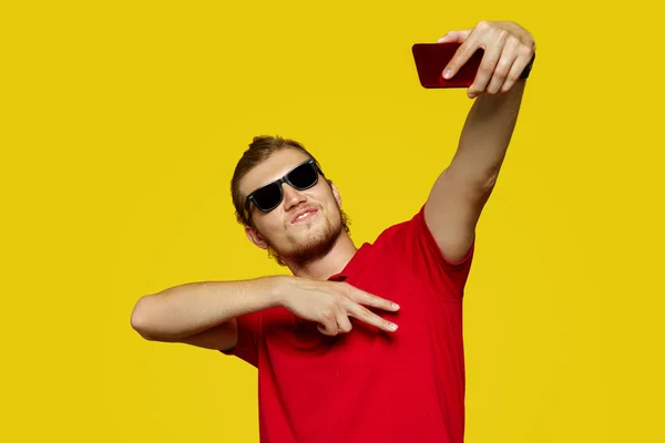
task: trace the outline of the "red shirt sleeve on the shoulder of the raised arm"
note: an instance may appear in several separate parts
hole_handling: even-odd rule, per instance
[[[443,257],[434,236],[424,220],[424,205],[410,220],[395,227],[391,243],[411,271],[432,286],[449,301],[463,298],[464,286],[471,269],[475,238],[460,261],[452,262]]]

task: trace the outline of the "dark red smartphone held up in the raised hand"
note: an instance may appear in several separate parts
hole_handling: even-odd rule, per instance
[[[484,51],[478,51],[452,79],[443,79],[443,69],[462,43],[416,43],[412,47],[416,70],[422,87],[469,87],[473,84]]]

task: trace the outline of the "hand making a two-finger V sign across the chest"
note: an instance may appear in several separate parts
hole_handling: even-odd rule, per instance
[[[349,317],[383,331],[397,330],[397,324],[380,318],[365,306],[387,311],[397,311],[399,306],[346,282],[290,277],[284,293],[282,305],[295,316],[319,323],[318,330],[326,336],[349,332]]]

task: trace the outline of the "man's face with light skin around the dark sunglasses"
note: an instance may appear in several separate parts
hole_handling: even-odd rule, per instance
[[[309,157],[300,151],[284,148],[249,171],[241,182],[246,197],[254,189],[283,177]],[[247,237],[262,248],[272,248],[283,259],[306,262],[326,254],[342,230],[337,189],[319,175],[305,190],[283,184],[284,199],[269,213],[254,205],[249,214],[256,229],[246,228]]]

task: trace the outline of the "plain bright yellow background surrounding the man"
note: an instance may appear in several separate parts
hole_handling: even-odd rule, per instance
[[[233,217],[254,135],[319,157],[358,245],[410,217],[471,104],[411,44],[482,19],[538,60],[467,290],[467,441],[665,441],[662,19],[607,4],[2,2],[0,441],[256,442],[255,371],[142,340],[134,302],[286,272]]]

